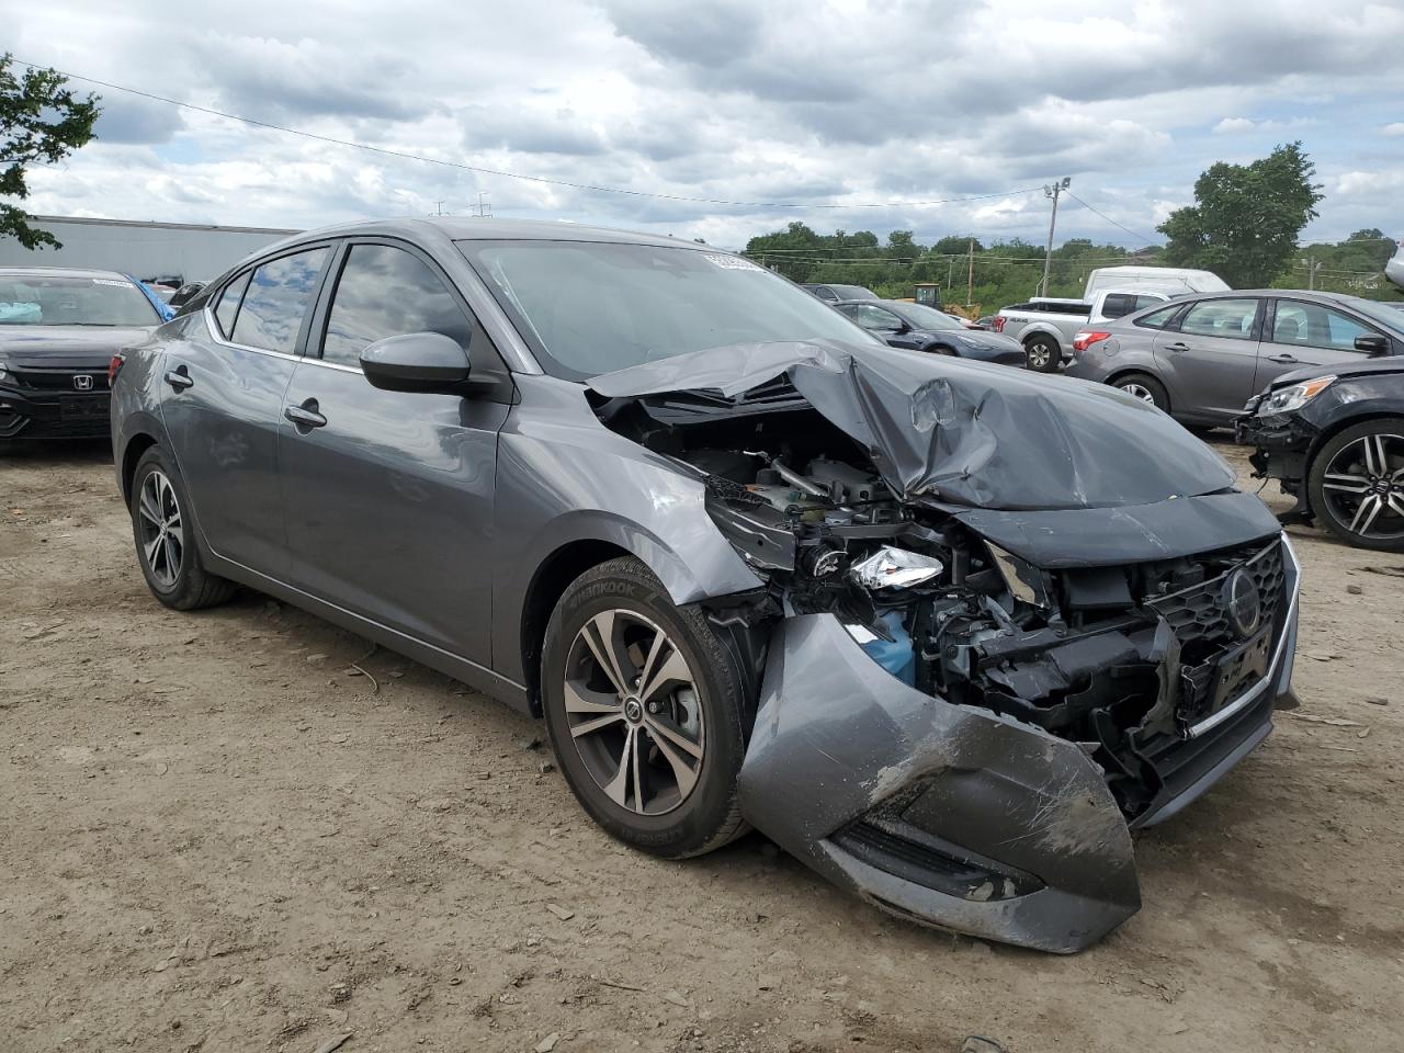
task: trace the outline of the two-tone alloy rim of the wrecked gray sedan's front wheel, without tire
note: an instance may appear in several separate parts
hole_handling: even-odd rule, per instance
[[[566,658],[574,748],[619,807],[660,816],[698,783],[706,748],[698,682],[668,635],[636,611],[592,616]]]

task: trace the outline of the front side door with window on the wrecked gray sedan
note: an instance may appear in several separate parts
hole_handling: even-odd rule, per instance
[[[420,331],[458,340],[479,362],[487,336],[427,258],[386,243],[348,249],[324,317],[284,399],[291,583],[489,665],[493,484],[508,406],[383,392],[359,366],[368,344]]]

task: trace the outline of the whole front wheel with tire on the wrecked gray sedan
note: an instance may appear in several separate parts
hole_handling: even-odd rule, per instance
[[[644,649],[653,650],[658,633],[665,643],[650,667]],[[605,670],[605,636],[626,667],[626,692]],[[651,694],[635,677],[646,670],[658,685]],[[656,678],[665,673],[677,675]],[[677,608],[640,560],[612,559],[570,584],[546,626],[541,674],[546,734],[562,775],[607,833],[668,859],[709,852],[746,833],[737,802],[740,663],[716,628],[701,612]],[[632,743],[639,748],[630,753]]]

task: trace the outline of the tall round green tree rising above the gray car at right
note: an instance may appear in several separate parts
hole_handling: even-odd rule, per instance
[[[1266,285],[1296,253],[1297,236],[1317,216],[1321,184],[1302,143],[1276,147],[1251,164],[1219,161],[1195,180],[1195,204],[1157,229],[1168,239],[1163,261],[1200,267],[1228,285]]]

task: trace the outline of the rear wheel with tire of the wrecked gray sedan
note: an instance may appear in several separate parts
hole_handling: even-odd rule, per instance
[[[223,604],[234,594],[232,581],[205,570],[194,539],[185,482],[160,446],[152,446],[136,462],[128,511],[142,577],[166,607],[198,611]]]

